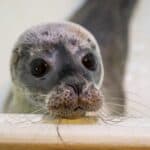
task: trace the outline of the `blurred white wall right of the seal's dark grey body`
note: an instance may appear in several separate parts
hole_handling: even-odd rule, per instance
[[[130,28],[126,92],[130,112],[150,117],[150,1],[139,0]]]

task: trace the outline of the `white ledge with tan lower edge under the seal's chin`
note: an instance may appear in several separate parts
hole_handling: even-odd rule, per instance
[[[58,122],[42,115],[0,114],[0,150],[150,149],[150,119],[112,125],[94,117]]]

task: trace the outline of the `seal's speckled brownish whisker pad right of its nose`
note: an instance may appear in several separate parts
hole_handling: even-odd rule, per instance
[[[94,86],[83,90],[79,97],[79,105],[86,111],[97,111],[102,107],[103,94]]]

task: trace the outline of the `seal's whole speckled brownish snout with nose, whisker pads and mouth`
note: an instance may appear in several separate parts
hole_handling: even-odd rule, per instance
[[[62,84],[51,92],[48,109],[53,116],[78,117],[88,111],[97,111],[102,106],[103,97],[92,84],[84,82]]]

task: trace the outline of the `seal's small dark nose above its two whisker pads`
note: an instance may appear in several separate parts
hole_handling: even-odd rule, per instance
[[[71,83],[71,84],[68,84],[68,86],[72,87],[76,94],[80,95],[82,93],[84,82],[81,81],[78,83]]]

